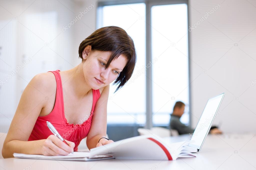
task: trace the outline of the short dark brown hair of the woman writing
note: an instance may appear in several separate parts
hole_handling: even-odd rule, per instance
[[[131,78],[135,67],[137,58],[132,38],[120,27],[102,27],[94,31],[90,36],[81,42],[78,53],[79,58],[82,59],[82,62],[82,53],[87,45],[91,45],[92,50],[112,52],[108,62],[106,63],[105,69],[109,67],[112,60],[118,58],[121,54],[124,55],[128,60],[123,71],[120,72],[119,76],[113,83],[118,85],[115,90],[116,92]]]

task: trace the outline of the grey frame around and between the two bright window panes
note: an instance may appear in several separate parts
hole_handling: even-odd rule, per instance
[[[146,5],[146,63],[149,63],[152,60],[152,29],[151,29],[151,8],[152,6],[156,5],[173,5],[173,4],[187,4],[187,14],[189,14],[189,4],[188,0],[163,0],[161,2],[158,2],[158,0],[113,0],[113,1],[105,1],[100,0],[98,2],[97,6],[97,14],[96,14],[96,28],[99,28],[100,25],[102,25],[102,8],[103,6],[109,6],[109,5],[123,5],[123,4],[136,4],[136,3],[145,3]],[[188,17],[188,16],[187,16]],[[150,24],[149,24],[150,23]],[[188,17],[188,25],[190,24],[190,20]],[[188,29],[188,28],[187,28]],[[188,31],[188,95],[189,95],[189,123],[188,125],[191,126],[191,87],[190,87],[190,32]],[[145,64],[146,64],[145,63]],[[153,127],[153,110],[152,110],[152,67],[149,67],[146,69],[146,124],[144,125],[145,128],[152,128]]]

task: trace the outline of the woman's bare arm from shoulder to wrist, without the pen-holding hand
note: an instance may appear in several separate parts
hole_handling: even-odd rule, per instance
[[[41,90],[43,84],[41,75],[38,74],[24,89],[4,141],[2,149],[4,158],[12,157],[14,152],[30,154],[33,151],[40,153],[41,141],[28,142],[27,140],[45,104],[44,91]]]

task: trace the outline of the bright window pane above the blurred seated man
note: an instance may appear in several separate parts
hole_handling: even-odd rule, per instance
[[[168,125],[175,102],[189,104],[187,4],[152,6],[151,25],[153,125]]]

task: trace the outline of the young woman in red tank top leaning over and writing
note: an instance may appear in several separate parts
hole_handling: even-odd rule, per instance
[[[104,138],[109,84],[120,89],[131,77],[136,52],[119,27],[103,27],[79,46],[82,62],[67,71],[37,74],[25,88],[4,141],[2,155],[67,155],[87,137],[89,149],[113,142]],[[68,143],[52,135],[52,123]]]

